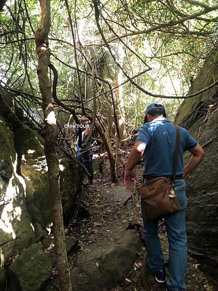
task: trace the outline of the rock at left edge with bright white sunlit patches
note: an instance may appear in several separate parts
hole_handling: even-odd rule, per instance
[[[4,192],[5,203],[0,208],[0,250],[3,257],[0,263],[3,266],[8,258],[28,248],[35,241],[31,217],[26,207],[24,185],[16,176],[14,177],[13,172],[12,179],[5,183],[5,186],[7,188]]]

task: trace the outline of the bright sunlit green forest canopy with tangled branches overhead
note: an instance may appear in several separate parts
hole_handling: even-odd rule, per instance
[[[49,50],[58,72],[58,98],[79,112],[93,109],[96,95],[102,120],[113,115],[114,98],[119,125],[128,129],[140,126],[147,103],[164,96],[176,98],[162,99],[172,120],[205,57],[217,45],[215,0],[50,4]],[[31,0],[7,1],[0,13],[1,86],[14,94],[37,126],[42,114],[34,34],[40,17],[39,1]],[[50,69],[51,85],[52,75]]]

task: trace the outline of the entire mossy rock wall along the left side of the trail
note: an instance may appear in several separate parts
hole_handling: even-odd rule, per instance
[[[68,159],[60,160],[60,170],[67,216],[83,174]],[[43,138],[18,120],[13,99],[0,90],[0,290],[11,261],[47,236],[51,211]]]

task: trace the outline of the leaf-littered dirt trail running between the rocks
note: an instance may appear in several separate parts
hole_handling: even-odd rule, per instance
[[[138,166],[137,172],[140,176],[142,166]],[[104,181],[105,182],[105,181]],[[122,184],[117,186],[103,186],[103,181],[96,180],[95,184],[89,188],[84,188],[83,198],[85,198],[85,208],[89,213],[86,213],[84,219],[75,219],[71,222],[68,228],[68,233],[80,238],[82,245],[88,248],[88,245],[106,239],[108,243],[113,242],[114,228],[119,229],[120,232],[124,231],[128,227],[136,227],[139,233],[142,233],[142,228],[138,224],[142,225],[140,202],[136,194],[123,205],[122,202],[114,199],[112,192],[122,192]],[[118,193],[118,197],[120,195]],[[132,195],[130,191],[128,195]],[[134,198],[134,199],[133,199]],[[126,199],[125,199],[126,200]],[[163,252],[166,260],[168,259],[168,242],[165,233],[164,223],[160,225],[160,237],[163,245]],[[144,260],[144,263],[143,263]],[[141,274],[141,267],[143,267],[143,274]],[[206,274],[201,272],[201,266],[198,262],[188,257],[188,270],[185,283],[187,291],[216,291],[217,287],[209,282]],[[168,274],[168,270],[167,270]],[[143,283],[145,283],[145,288]],[[151,271],[147,266],[145,247],[136,254],[136,260],[132,266],[132,271],[126,275],[123,281],[115,288],[109,291],[161,291],[166,290],[164,285],[156,283]]]

